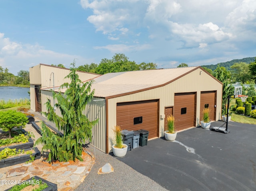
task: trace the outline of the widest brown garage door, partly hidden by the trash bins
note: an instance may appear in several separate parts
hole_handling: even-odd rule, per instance
[[[158,100],[118,103],[116,124],[126,130],[148,130],[148,138],[158,137]]]

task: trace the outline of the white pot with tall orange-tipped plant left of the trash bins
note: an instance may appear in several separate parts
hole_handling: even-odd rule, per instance
[[[114,127],[113,130],[114,130],[115,138],[116,138],[116,140],[115,140],[116,144],[114,144],[112,146],[114,156],[116,156],[118,158],[124,157],[127,153],[128,146],[126,144],[124,144],[122,141],[121,127],[117,125]]]

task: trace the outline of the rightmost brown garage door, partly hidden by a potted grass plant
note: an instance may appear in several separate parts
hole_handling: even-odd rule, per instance
[[[216,120],[216,91],[201,92],[200,96],[200,120],[202,119],[202,110],[207,107],[210,108],[210,120]]]

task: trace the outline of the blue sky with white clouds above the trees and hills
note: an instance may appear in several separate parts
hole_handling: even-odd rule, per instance
[[[17,75],[124,53],[158,68],[256,56],[255,0],[1,0],[0,66]]]

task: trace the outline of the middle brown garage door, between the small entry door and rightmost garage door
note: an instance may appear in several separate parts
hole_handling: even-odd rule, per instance
[[[196,93],[174,95],[174,117],[176,130],[195,126]]]

